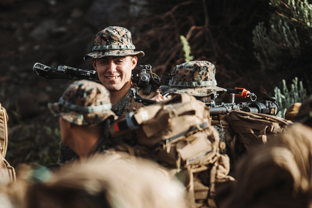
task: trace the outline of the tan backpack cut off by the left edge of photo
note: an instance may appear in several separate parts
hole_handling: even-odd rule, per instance
[[[16,180],[15,170],[7,160],[4,158],[7,153],[7,111],[1,106],[0,103],[0,168],[1,178],[6,182],[12,182]],[[1,182],[4,182],[1,181]]]

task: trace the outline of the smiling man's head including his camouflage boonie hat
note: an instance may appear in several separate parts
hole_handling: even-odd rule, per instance
[[[93,58],[92,65],[98,71],[99,79],[113,92],[131,87],[131,75],[137,64],[137,56],[144,56],[143,51],[134,49],[129,30],[124,27],[106,27],[98,32],[93,52],[85,55],[84,59]]]

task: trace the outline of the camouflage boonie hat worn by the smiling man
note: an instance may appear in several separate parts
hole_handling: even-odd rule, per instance
[[[105,56],[144,56],[143,51],[134,51],[135,46],[131,40],[131,32],[124,27],[106,27],[95,37],[92,53],[85,55],[88,58],[103,58]]]

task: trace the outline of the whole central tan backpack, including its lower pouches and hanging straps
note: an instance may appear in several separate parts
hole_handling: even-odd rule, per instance
[[[171,168],[187,188],[188,207],[216,207],[216,182],[234,180],[227,176],[229,158],[219,153],[222,145],[209,108],[191,95],[178,94],[121,116],[110,134],[130,144],[128,152]]]

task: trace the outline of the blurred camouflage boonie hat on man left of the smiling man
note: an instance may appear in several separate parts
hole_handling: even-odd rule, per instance
[[[111,111],[110,93],[101,84],[78,80],[67,87],[56,103],[48,103],[48,108],[55,117],[76,125],[92,125],[115,118]]]

